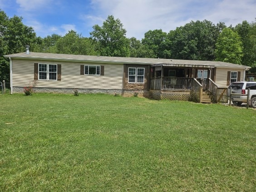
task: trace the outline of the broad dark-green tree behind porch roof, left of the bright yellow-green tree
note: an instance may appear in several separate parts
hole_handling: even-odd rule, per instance
[[[167,34],[166,53],[173,59],[213,60],[217,37],[224,26],[197,20],[177,27]]]

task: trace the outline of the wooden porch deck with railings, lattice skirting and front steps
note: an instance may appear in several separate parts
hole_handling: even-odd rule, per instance
[[[201,81],[200,81],[201,80]],[[218,87],[212,79],[157,77],[150,82],[150,97],[197,103],[227,102],[227,88]]]

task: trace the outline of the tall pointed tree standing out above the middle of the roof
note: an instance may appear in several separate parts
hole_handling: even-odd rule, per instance
[[[128,57],[129,39],[126,38],[126,30],[119,19],[115,20],[113,15],[108,15],[102,27],[93,26],[94,31],[90,33],[91,39],[98,44],[100,55]]]

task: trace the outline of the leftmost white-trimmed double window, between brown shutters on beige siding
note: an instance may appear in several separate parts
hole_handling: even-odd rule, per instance
[[[38,64],[39,80],[57,81],[57,64]]]

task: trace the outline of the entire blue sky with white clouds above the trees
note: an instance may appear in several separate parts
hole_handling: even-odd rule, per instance
[[[41,37],[69,30],[89,37],[92,26],[102,26],[108,15],[121,20],[128,38],[137,39],[148,30],[169,32],[191,20],[235,26],[256,18],[256,0],[0,0],[0,9],[23,17]]]

